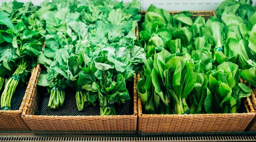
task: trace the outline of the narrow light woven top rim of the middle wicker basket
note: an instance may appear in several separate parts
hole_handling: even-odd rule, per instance
[[[137,38],[139,37],[139,26],[137,23],[137,27],[134,31],[134,33],[136,34]],[[45,42],[44,45],[45,46]],[[133,88],[133,104],[134,104],[134,109],[133,109],[133,113],[131,115],[108,115],[108,116],[99,116],[99,115],[90,115],[90,116],[47,116],[47,115],[28,115],[29,113],[29,108],[31,106],[32,103],[32,99],[31,96],[35,95],[33,93],[33,90],[36,89],[37,86],[37,81],[38,81],[38,77],[40,75],[40,71],[41,71],[41,67],[40,64],[37,65],[37,67],[35,67],[36,69],[38,69],[38,74],[35,74],[33,77],[33,81],[32,81],[32,85],[29,89],[29,93],[28,93],[28,97],[26,100],[26,104],[25,107],[23,109],[22,115],[21,117],[23,119],[111,119],[111,118],[137,118],[138,117],[138,104],[137,104],[137,73],[135,73],[134,76],[134,88]]]

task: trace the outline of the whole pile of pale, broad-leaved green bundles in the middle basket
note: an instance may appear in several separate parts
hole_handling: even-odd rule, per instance
[[[134,43],[140,3],[105,0],[45,1],[37,11],[46,22],[46,44],[38,63],[46,67],[38,85],[51,92],[49,107],[63,105],[64,89],[76,89],[79,111],[101,106],[101,115],[116,115],[113,104],[130,96],[126,82],[141,68],[145,51]]]

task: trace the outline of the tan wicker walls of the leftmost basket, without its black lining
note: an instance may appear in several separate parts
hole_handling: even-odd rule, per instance
[[[22,111],[25,106],[25,102],[28,96],[28,92],[32,83],[32,77],[35,75],[36,68],[33,69],[32,75],[29,79],[28,86],[26,88],[25,95],[21,102],[19,110],[9,110],[2,111],[0,110],[0,128],[1,131],[30,131],[29,126],[25,123],[25,121],[21,118]]]

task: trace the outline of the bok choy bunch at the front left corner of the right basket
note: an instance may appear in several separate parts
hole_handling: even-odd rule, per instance
[[[171,113],[169,107],[171,95],[169,90],[164,87],[168,85],[168,80],[164,75],[164,61],[168,56],[171,56],[171,54],[163,49],[160,53],[155,54],[154,57],[150,57],[144,62],[144,70],[141,72],[141,79],[137,84],[137,90],[141,97],[142,104],[145,106],[144,110],[147,113]],[[162,65],[160,66],[159,64],[158,66],[157,62],[161,62]]]

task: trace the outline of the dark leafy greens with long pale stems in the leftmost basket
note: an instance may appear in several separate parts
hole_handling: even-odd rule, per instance
[[[40,36],[40,21],[34,19],[37,6],[17,1],[3,3],[0,8],[0,89],[1,109],[10,110],[17,85],[26,83],[35,66],[44,39]]]

